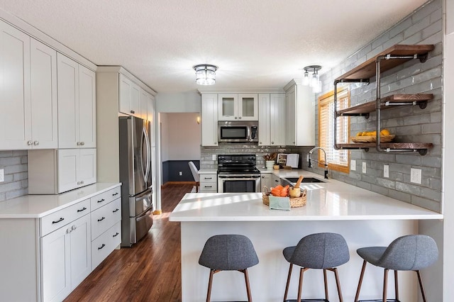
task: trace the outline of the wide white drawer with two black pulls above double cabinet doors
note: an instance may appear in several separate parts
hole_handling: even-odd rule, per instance
[[[86,199],[60,211],[40,218],[40,237],[43,237],[63,225],[90,213],[90,200]]]

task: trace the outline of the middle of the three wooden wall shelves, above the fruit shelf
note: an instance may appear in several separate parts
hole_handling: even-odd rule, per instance
[[[417,103],[427,102],[433,99],[433,94],[393,94],[392,96],[384,97],[380,99],[382,105],[380,109],[392,108],[392,104],[396,103],[399,105],[408,104],[411,105],[415,101]],[[389,105],[387,104],[389,103]],[[337,111],[338,116],[343,115],[361,115],[365,113],[374,112],[376,110],[376,101],[370,101],[365,104],[360,104],[350,108],[345,108]]]

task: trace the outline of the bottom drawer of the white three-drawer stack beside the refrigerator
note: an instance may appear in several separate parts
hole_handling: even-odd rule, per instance
[[[121,221],[92,241],[92,270],[121,243]]]

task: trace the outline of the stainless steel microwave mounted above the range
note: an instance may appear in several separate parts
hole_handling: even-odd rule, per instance
[[[219,121],[219,142],[258,142],[258,121]]]

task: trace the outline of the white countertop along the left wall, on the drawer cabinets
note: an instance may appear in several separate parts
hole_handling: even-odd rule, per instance
[[[96,183],[56,195],[26,195],[0,202],[0,218],[41,218],[74,203],[91,198],[120,183]]]

